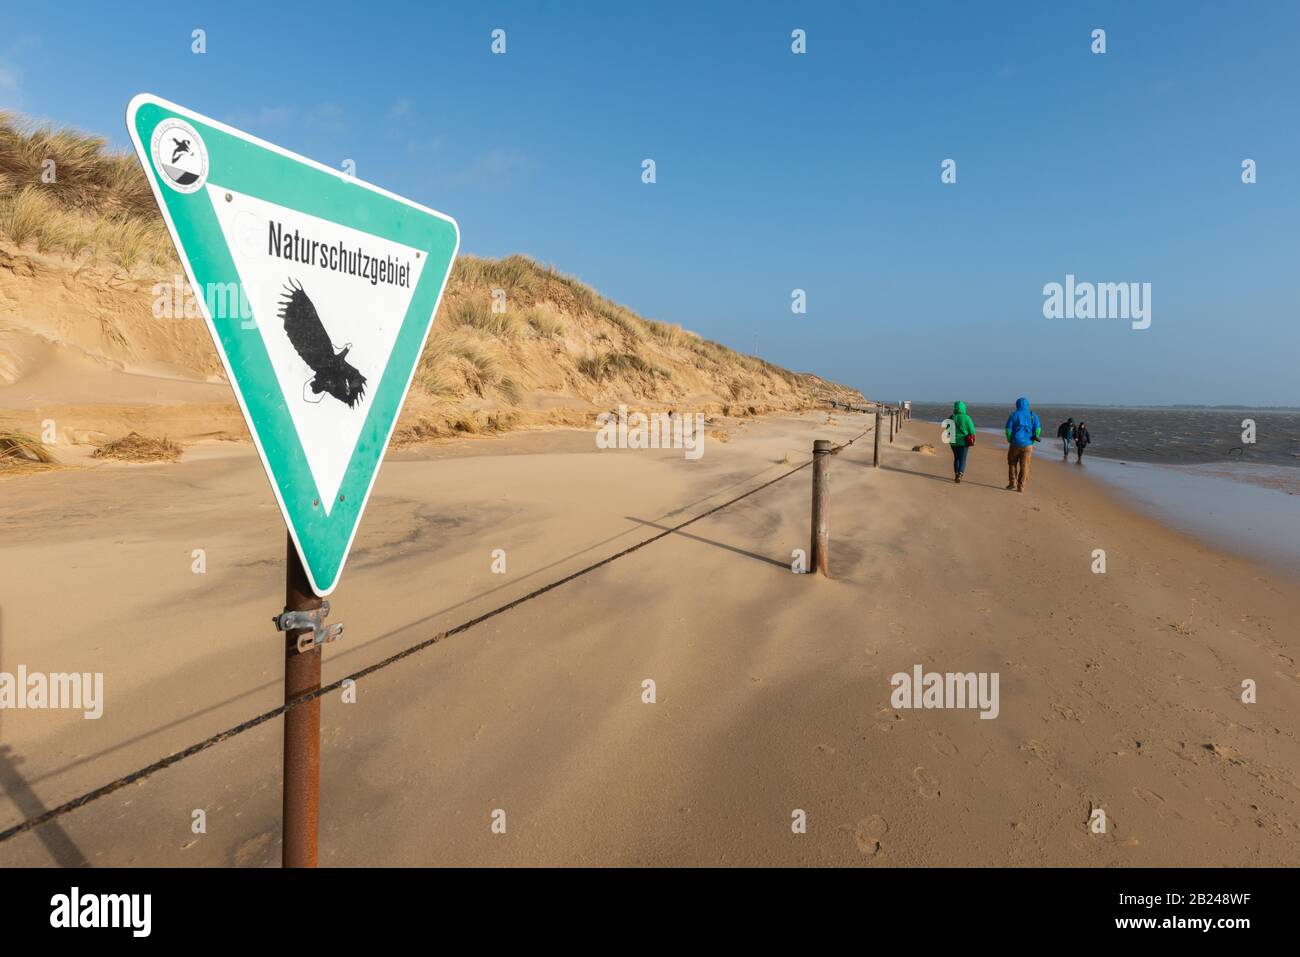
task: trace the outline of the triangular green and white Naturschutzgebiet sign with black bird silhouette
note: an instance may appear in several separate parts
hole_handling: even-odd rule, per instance
[[[140,94],[126,125],[312,589],[338,584],[455,221]]]

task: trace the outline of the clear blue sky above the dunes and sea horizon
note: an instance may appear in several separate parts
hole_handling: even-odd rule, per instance
[[[62,3],[5,27],[3,107],[126,147],[155,92],[355,160],[464,252],[868,395],[1300,404],[1300,4]],[[1044,319],[1066,273],[1150,282],[1150,328]]]

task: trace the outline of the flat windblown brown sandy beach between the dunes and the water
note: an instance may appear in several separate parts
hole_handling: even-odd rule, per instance
[[[867,426],[728,419],[694,462],[568,429],[393,452],[333,596],[347,636],[325,680]],[[1300,585],[1050,454],[1015,494],[982,441],[953,485],[942,446],[911,451],[933,433],[910,423],[880,469],[870,436],[833,458],[829,580],[789,570],[805,469],[363,679],[355,703],[326,697],[321,863],[1294,863]],[[101,671],[105,697],[99,720],[0,713],[0,830],[281,702],[283,528],[251,446],[0,494],[0,671]],[[890,676],[918,664],[996,672],[996,719],[892,707]],[[8,841],[0,865],[277,865],[280,735]]]

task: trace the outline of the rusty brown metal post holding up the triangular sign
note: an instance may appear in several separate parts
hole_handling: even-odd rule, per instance
[[[303,571],[294,540],[285,536],[285,610],[311,611],[321,606]],[[298,638],[309,628],[285,632],[285,702],[321,687],[321,646],[299,651]],[[321,778],[321,701],[316,698],[285,713],[283,837],[285,867],[316,866],[316,813]]]

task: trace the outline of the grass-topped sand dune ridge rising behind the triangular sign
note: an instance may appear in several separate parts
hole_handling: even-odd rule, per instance
[[[754,416],[828,399],[862,395],[644,319],[526,256],[462,256],[394,443],[586,426],[621,402]],[[135,157],[0,111],[3,430],[73,460],[133,430],[247,439]]]

